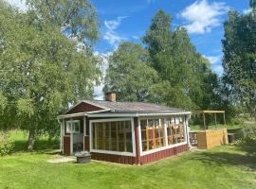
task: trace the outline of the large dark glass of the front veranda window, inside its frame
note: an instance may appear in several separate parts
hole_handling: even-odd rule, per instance
[[[133,152],[131,121],[92,123],[92,148]]]

